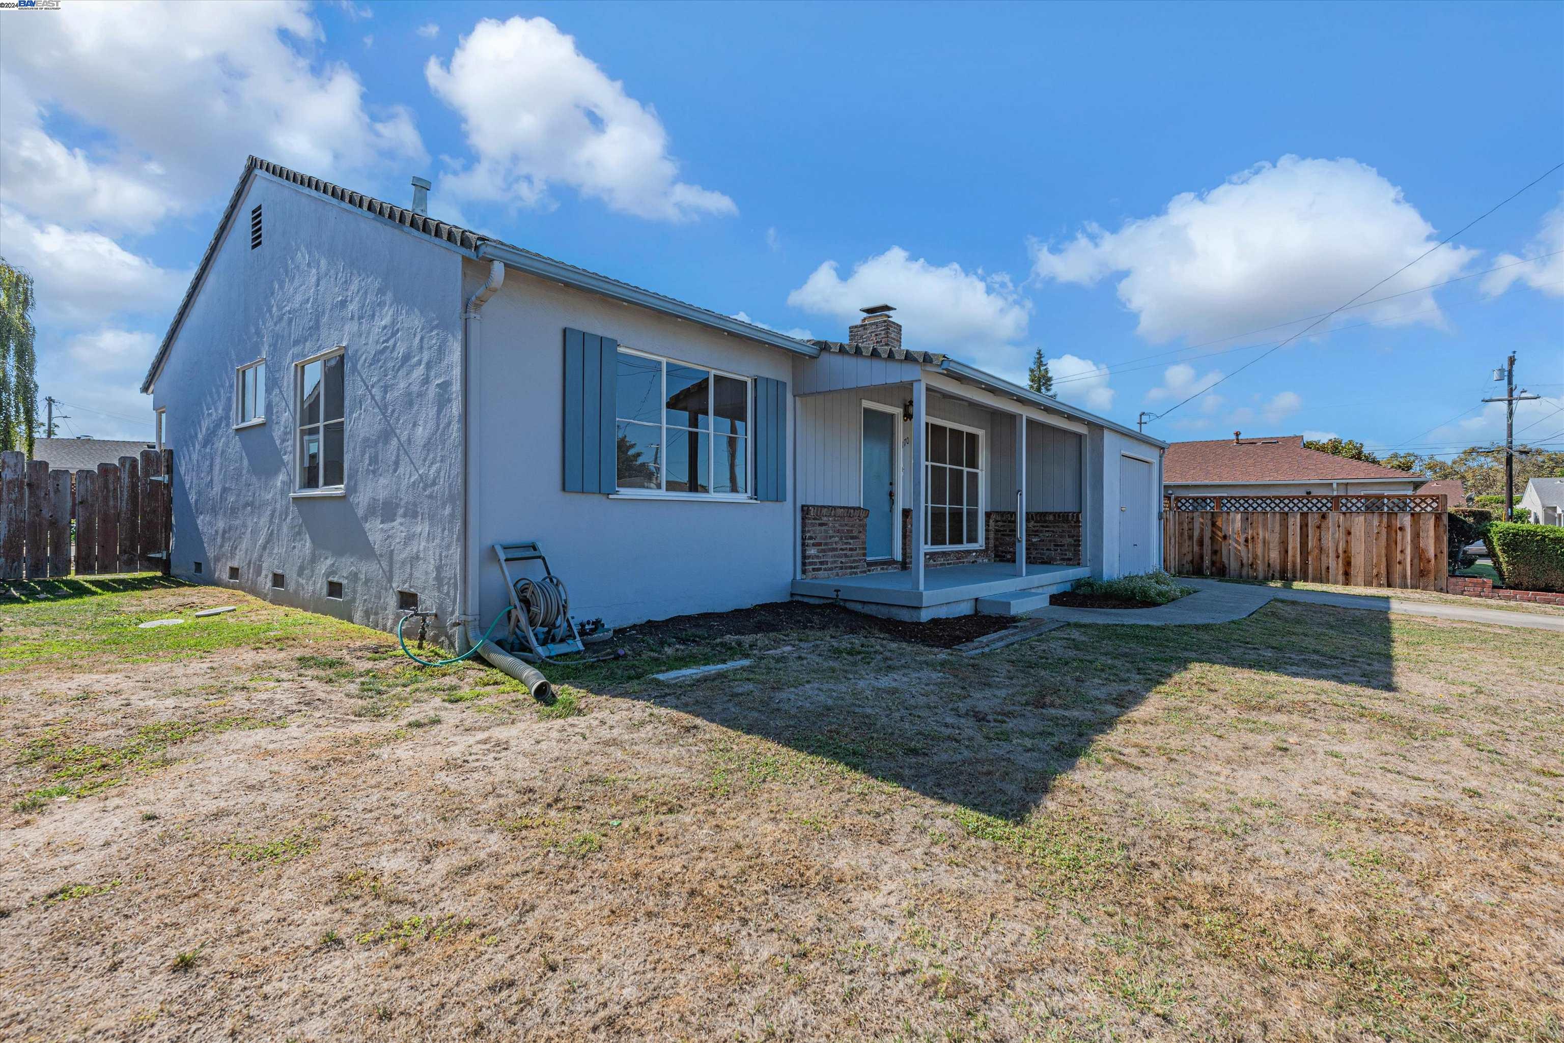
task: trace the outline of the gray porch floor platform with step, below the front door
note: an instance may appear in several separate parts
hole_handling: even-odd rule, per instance
[[[1009,561],[978,561],[927,568],[921,585],[915,569],[801,579],[793,580],[793,597],[918,622],[974,611],[1017,616],[1042,608],[1048,594],[1068,590],[1090,572],[1076,565],[1028,565],[1021,574]]]

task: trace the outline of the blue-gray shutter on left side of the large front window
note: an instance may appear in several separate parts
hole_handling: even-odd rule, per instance
[[[619,342],[565,330],[565,491],[613,493],[618,486],[615,391]]]

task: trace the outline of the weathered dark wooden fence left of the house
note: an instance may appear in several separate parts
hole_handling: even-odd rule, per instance
[[[0,453],[0,580],[167,572],[174,453],[50,469]]]

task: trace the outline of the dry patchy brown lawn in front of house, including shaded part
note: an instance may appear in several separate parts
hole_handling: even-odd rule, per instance
[[[120,586],[0,600],[3,1038],[1564,1038],[1556,633],[799,611],[538,707]]]

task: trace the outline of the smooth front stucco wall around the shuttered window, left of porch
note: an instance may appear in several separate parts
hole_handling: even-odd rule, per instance
[[[468,263],[466,292],[488,275]],[[793,579],[793,475],[788,500],[638,500],[565,493],[561,427],[565,328],[694,366],[790,382],[791,357],[690,322],[621,305],[519,272],[483,310],[479,372],[480,615],[507,602],[490,549],[536,539],[571,593],[571,615],[627,625],[785,600]],[[790,413],[793,403],[790,402]]]

